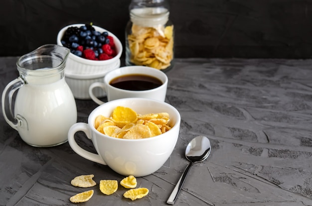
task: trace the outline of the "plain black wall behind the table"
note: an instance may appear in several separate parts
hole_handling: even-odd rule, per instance
[[[170,0],[176,57],[311,58],[311,0]],[[0,56],[56,43],[93,22],[124,44],[130,0],[2,0]]]

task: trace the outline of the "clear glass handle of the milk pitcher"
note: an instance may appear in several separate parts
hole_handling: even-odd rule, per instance
[[[20,115],[14,116],[12,110],[12,97],[14,92],[21,88],[26,82],[21,79],[20,77],[16,78],[15,80],[11,81],[6,85],[2,93],[2,112],[5,121],[15,130],[17,127],[22,126],[23,124],[27,124],[27,121]]]

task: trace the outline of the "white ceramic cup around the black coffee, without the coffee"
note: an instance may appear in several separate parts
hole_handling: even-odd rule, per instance
[[[113,87],[110,85],[110,82],[120,76],[124,75],[132,75],[132,74],[143,74],[152,77],[156,77],[162,82],[162,85],[151,89],[151,90],[144,90],[144,91],[131,91],[131,90],[124,90]],[[167,84],[168,78],[162,72],[155,68],[145,67],[145,66],[127,66],[115,69],[109,73],[107,73],[104,77],[104,82],[95,82],[90,85],[89,87],[89,95],[91,99],[98,104],[103,104],[104,102],[99,100],[92,92],[92,90],[96,87],[102,88],[107,95],[107,100],[118,100],[123,98],[147,98],[153,99],[164,102],[166,92],[167,92]]]

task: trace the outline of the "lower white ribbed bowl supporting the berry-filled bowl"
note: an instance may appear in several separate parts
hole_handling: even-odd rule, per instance
[[[116,62],[114,68],[118,69],[120,67],[120,60]],[[79,100],[90,100],[89,88],[93,83],[101,82],[104,83],[104,77],[107,72],[103,74],[87,74],[87,75],[78,75],[78,74],[65,74],[65,81],[69,86],[71,92],[73,93],[75,99]],[[107,94],[101,88],[94,88],[93,94],[97,98],[105,97]]]

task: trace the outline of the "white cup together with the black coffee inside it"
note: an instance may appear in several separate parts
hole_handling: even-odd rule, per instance
[[[146,66],[127,66],[115,69],[104,77],[104,82],[95,82],[89,87],[91,99],[98,104],[104,102],[94,94],[94,88],[101,88],[107,100],[123,98],[147,98],[164,102],[168,78],[160,70]]]

